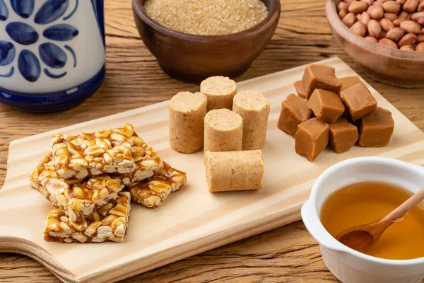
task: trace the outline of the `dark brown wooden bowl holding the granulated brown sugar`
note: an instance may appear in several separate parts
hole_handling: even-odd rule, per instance
[[[144,0],[133,0],[134,20],[144,44],[170,76],[201,81],[209,76],[239,76],[249,69],[276,30],[280,0],[263,0],[269,14],[248,30],[230,35],[189,35],[149,18]]]

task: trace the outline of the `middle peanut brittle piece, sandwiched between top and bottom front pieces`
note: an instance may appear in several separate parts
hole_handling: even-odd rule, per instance
[[[31,185],[72,221],[86,219],[118,196],[124,185],[107,175],[88,180],[63,179],[55,170],[52,152],[42,158],[30,175]]]

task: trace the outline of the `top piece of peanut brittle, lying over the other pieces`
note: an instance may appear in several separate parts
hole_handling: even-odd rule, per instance
[[[56,134],[52,153],[61,178],[83,179],[104,173],[132,174],[139,181],[163,166],[153,149],[134,132],[132,125],[76,136]]]

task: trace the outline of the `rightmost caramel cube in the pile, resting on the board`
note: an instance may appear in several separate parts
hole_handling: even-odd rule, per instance
[[[377,108],[375,112],[363,117],[359,126],[359,145],[363,147],[381,147],[389,144],[394,130],[391,112]]]

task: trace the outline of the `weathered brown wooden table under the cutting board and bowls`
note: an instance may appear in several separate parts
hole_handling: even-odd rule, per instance
[[[352,59],[334,42],[324,0],[281,0],[281,19],[272,41],[236,81],[338,56],[355,71]],[[6,175],[8,144],[78,122],[196,91],[163,73],[134,26],[130,0],[106,0],[107,77],[100,91],[77,108],[34,115],[0,105],[0,187]],[[423,89],[406,90],[361,74],[379,93],[424,130]],[[0,253],[0,282],[59,282],[35,260]],[[131,277],[124,282],[338,282],[326,269],[302,221]]]

